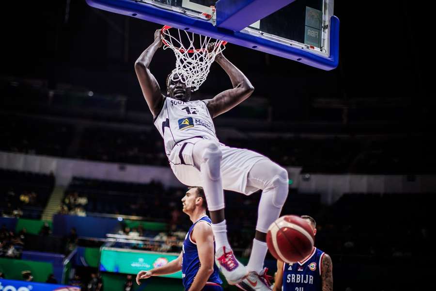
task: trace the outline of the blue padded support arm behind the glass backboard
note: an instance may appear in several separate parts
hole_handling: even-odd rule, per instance
[[[217,26],[239,32],[295,0],[219,0],[215,4]]]

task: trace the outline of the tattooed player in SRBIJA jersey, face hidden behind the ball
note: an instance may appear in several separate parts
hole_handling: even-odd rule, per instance
[[[316,222],[308,215],[301,218],[313,228],[316,234]],[[311,254],[294,264],[277,261],[277,274],[274,291],[332,291],[333,265],[326,253],[313,247]]]

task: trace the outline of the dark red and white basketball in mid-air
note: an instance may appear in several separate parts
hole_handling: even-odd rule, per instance
[[[286,263],[302,261],[313,249],[313,230],[310,224],[296,215],[278,218],[268,228],[266,243],[269,252]]]

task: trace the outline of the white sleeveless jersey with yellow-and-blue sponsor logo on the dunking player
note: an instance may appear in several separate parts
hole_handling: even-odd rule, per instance
[[[155,126],[164,139],[167,155],[175,144],[193,137],[218,142],[212,117],[202,100],[184,102],[166,97]]]

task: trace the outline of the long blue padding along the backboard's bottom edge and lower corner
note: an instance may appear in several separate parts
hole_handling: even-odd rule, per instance
[[[334,69],[339,62],[339,19],[336,16],[332,16],[330,19],[330,56],[324,57],[296,46],[216,27],[211,22],[200,18],[185,16],[132,0],[86,0],[86,2],[92,7],[113,13],[134,16],[135,18],[156,22],[161,25],[170,25],[178,29],[186,30],[189,28],[189,32],[208,35],[218,40],[226,40],[229,43],[295,60],[323,70]]]

